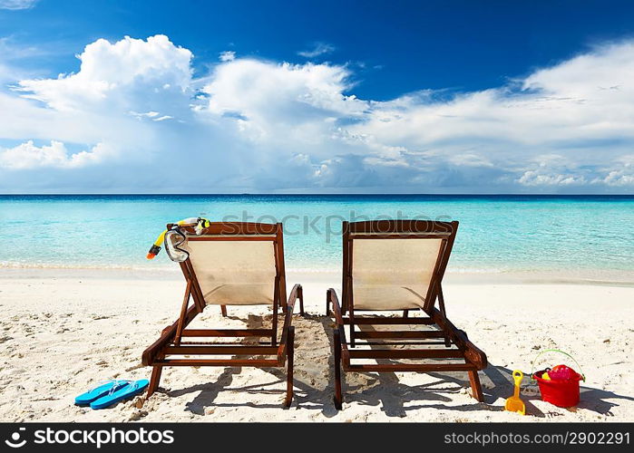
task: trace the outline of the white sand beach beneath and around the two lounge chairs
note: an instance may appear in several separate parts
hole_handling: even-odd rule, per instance
[[[333,405],[332,323],[324,316],[333,274],[288,273],[309,315],[296,316],[295,400],[283,409],[278,369],[174,368],[160,392],[108,410],[73,406],[75,395],[110,378],[142,379],[141,352],[176,320],[184,284],[176,273],[4,269],[0,272],[0,421],[633,421],[634,285],[549,283],[504,275],[448,275],[449,318],[486,352],[484,402],[465,373],[346,374],[344,409]],[[250,314],[249,314],[250,312]],[[256,327],[266,308],[208,307],[197,325]],[[193,324],[192,324],[193,325]],[[531,371],[543,349],[580,361],[587,381],[578,408],[540,400],[524,378],[528,415],[505,412],[511,373]],[[553,361],[559,358],[553,356]],[[556,363],[551,363],[556,364]],[[142,406],[141,406],[141,403]]]

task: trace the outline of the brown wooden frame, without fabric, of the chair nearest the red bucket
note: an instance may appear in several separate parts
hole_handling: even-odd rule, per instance
[[[442,279],[454,246],[458,222],[439,222],[422,220],[377,220],[356,223],[343,223],[343,306],[339,304],[334,289],[327,290],[326,313],[335,318],[334,355],[335,355],[335,406],[341,409],[343,402],[341,371],[468,371],[473,397],[483,400],[482,387],[478,371],[487,366],[486,355],[473,345],[466,333],[451,323],[445,314]],[[361,315],[355,311],[353,294],[352,250],[355,239],[394,239],[394,238],[440,238],[442,245],[436,260],[429,290],[424,298],[424,317],[410,317],[409,310],[404,310],[400,317]],[[436,300],[439,308],[436,308]],[[331,310],[332,307],[332,310]],[[346,312],[348,313],[346,316]],[[346,340],[345,326],[349,326],[350,338]],[[435,326],[437,330],[380,331],[372,330],[356,332],[356,326],[381,325],[414,325]],[[372,327],[373,328],[373,327]],[[383,349],[358,350],[357,341],[365,344],[421,344],[426,349]],[[373,343],[372,340],[382,340]],[[399,340],[407,342],[385,342]],[[411,342],[414,341],[414,342]],[[436,346],[429,348],[429,346]],[[360,364],[354,359],[385,360],[427,360],[424,363],[387,363]],[[446,361],[463,360],[464,363],[447,363]],[[429,362],[433,360],[433,362]],[[443,360],[445,361],[443,363]]]

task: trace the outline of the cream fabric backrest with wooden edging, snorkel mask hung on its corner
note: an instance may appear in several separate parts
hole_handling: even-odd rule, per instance
[[[168,226],[169,227],[169,226]],[[279,304],[286,300],[281,224],[214,222],[196,235],[181,227],[190,257],[181,264],[204,304]]]

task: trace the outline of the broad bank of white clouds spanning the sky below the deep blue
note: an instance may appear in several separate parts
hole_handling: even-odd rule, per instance
[[[634,41],[489,90],[391,101],[357,98],[352,69],[330,63],[222,53],[195,79],[164,35],[100,39],[78,58],[0,92],[0,140],[21,143],[0,149],[0,189],[46,169],[64,176],[35,188],[107,171],[111,192],[634,189]]]

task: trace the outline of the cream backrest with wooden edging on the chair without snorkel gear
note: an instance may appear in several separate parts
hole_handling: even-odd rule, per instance
[[[344,222],[344,309],[429,312],[435,304],[458,222]]]

